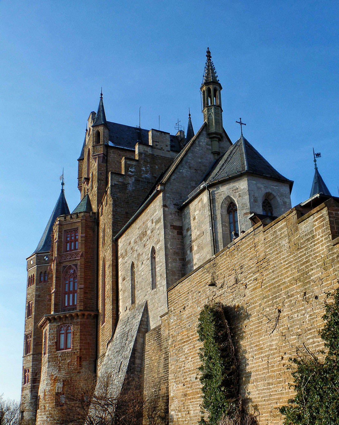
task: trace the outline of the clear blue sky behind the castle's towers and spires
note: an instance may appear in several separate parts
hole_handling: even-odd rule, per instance
[[[0,0],[0,394],[20,398],[26,262],[59,196],[70,210],[87,117],[103,87],[109,121],[175,133],[202,125],[207,46],[235,123],[284,176],[292,205],[319,171],[338,194],[339,37],[333,1]]]

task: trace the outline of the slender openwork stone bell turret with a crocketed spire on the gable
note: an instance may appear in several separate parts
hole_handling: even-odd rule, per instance
[[[219,142],[223,136],[221,84],[212,62],[210,49],[206,52],[204,79],[200,87],[202,94],[202,112],[207,123],[207,135],[211,139],[212,153],[217,158],[220,155]]]

